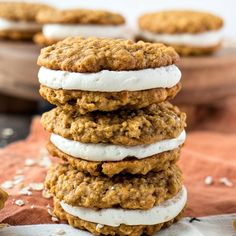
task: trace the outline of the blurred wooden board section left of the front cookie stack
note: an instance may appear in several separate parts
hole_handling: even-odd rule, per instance
[[[38,100],[40,48],[31,42],[0,41],[0,93]]]

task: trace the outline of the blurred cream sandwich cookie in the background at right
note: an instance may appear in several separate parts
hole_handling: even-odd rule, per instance
[[[221,46],[223,20],[207,12],[147,13],[138,25],[137,39],[171,45],[182,56],[210,54]]]

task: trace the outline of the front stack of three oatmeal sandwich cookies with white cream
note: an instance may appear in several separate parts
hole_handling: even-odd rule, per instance
[[[115,39],[68,38],[41,51],[41,94],[57,105],[41,123],[49,152],[64,160],[45,186],[61,220],[95,235],[152,235],[181,217],[186,117],[166,101],[180,89],[177,59],[162,44]]]

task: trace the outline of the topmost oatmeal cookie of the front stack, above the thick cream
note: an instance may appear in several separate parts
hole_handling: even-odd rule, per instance
[[[52,70],[86,73],[156,68],[174,64],[178,58],[172,47],[159,43],[72,37],[43,48],[38,65]]]

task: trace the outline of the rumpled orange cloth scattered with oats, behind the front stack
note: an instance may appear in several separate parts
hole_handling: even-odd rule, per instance
[[[17,170],[24,169],[25,184],[43,182],[47,169],[33,165],[25,166],[26,159],[38,160],[48,134],[43,131],[39,119],[33,121],[31,134],[24,140],[0,150],[0,184],[11,180]],[[180,166],[189,192],[187,216],[207,216],[236,212],[236,134],[226,135],[212,132],[188,134],[183,148]],[[55,159],[54,159],[55,161]],[[204,179],[211,175],[214,184],[205,185]],[[227,177],[234,183],[226,187],[219,183],[220,177]],[[41,191],[32,196],[18,194],[18,189],[7,190],[10,198],[0,212],[0,222],[11,225],[53,223],[47,212],[51,199],[42,197]],[[17,206],[14,200],[23,199],[24,206]],[[34,207],[32,207],[34,206]]]

